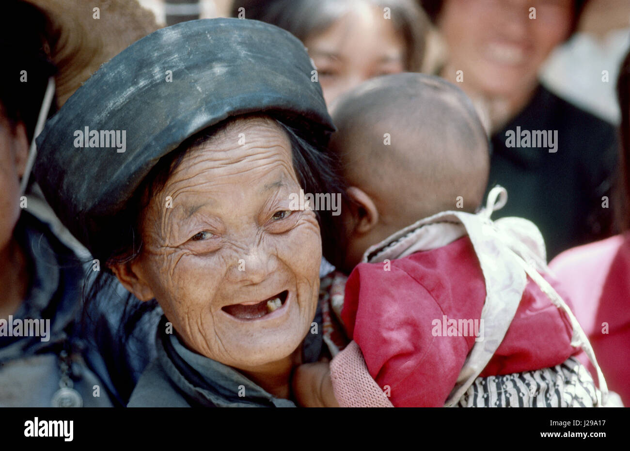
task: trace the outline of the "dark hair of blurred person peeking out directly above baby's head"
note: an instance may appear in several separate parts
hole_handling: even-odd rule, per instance
[[[421,69],[427,46],[429,21],[415,0],[363,0],[390,8],[391,21],[405,43],[405,69]],[[232,16],[244,8],[245,17],[279,26],[304,42],[338,20],[348,8],[345,0],[234,0]]]

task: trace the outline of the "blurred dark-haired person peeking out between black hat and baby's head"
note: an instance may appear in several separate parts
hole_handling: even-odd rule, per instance
[[[413,0],[234,0],[232,16],[299,38],[326,104],[367,79],[423,69],[427,16]]]

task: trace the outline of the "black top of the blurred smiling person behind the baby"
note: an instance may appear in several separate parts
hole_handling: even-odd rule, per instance
[[[507,147],[506,133],[517,127],[558,130],[557,151]],[[508,191],[508,203],[495,217],[520,216],[534,222],[544,237],[547,260],[611,236],[617,142],[612,124],[539,86],[529,105],[491,137],[488,191],[497,184]],[[604,196],[608,208],[602,207]]]

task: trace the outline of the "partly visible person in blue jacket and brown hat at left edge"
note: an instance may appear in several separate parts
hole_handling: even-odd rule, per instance
[[[80,321],[86,269],[91,273],[98,265],[40,197],[30,179],[36,154],[29,146],[38,115],[52,115],[103,62],[157,25],[135,1],[105,0],[11,0],[3,4],[2,25],[0,265],[6,279],[0,297],[0,406],[124,404],[116,401],[120,395],[110,374],[135,364],[144,368],[135,355],[149,359],[151,348],[114,345],[122,316],[115,305],[85,312],[85,319],[95,319],[90,325]],[[26,336],[28,320],[40,326],[49,321],[47,336],[41,327],[32,329],[38,336]],[[92,336],[106,340],[98,346]],[[152,342],[148,336],[144,341]],[[125,364],[114,364],[119,361]]]

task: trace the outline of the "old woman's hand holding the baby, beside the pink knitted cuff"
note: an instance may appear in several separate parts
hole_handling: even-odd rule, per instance
[[[299,365],[291,385],[295,401],[301,407],[339,407],[333,394],[328,360]]]

